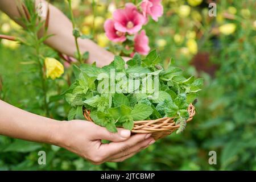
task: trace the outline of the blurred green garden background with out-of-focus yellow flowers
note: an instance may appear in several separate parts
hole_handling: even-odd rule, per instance
[[[108,48],[103,23],[111,12],[131,1],[73,1],[80,30]],[[151,49],[188,75],[204,77],[205,86],[196,104],[196,116],[179,135],[161,139],[122,163],[94,166],[75,154],[48,144],[0,136],[0,170],[256,170],[256,15],[255,1],[216,2],[217,16],[210,17],[210,1],[164,0],[164,15],[147,24]],[[51,1],[67,13],[67,2]],[[67,16],[69,16],[67,14]],[[23,36],[24,31],[0,14],[0,34]],[[54,55],[46,48],[49,55]],[[31,50],[13,42],[0,43],[0,99],[42,114],[36,69]],[[65,81],[51,82],[52,91],[67,88]],[[52,98],[51,115],[66,119],[68,106]],[[15,113],[14,113],[15,114]],[[47,164],[38,165],[38,151],[46,151]],[[208,163],[216,151],[217,164]]]

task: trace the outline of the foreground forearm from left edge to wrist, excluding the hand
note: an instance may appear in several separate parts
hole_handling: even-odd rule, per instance
[[[55,144],[60,122],[28,113],[0,100],[0,135]]]

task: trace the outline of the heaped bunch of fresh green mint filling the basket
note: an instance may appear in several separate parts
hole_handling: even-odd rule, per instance
[[[134,121],[174,117],[176,124],[180,123],[180,133],[189,118],[188,106],[198,96],[203,79],[185,78],[181,68],[168,65],[163,69],[161,63],[156,51],[151,51],[144,59],[135,54],[127,63],[115,56],[102,68],[95,64],[74,65],[76,81],[65,92],[72,106],[68,119],[84,119],[86,109],[97,125],[117,132],[117,127],[133,129]]]

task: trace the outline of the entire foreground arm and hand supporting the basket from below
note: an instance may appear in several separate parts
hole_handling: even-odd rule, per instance
[[[0,135],[54,144],[94,164],[121,162],[154,141],[146,134],[130,137],[129,130],[118,129],[118,133],[109,133],[104,127],[88,121],[56,121],[28,113],[1,100]],[[113,142],[102,144],[101,139]]]

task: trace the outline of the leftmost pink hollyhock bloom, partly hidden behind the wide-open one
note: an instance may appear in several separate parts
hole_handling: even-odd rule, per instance
[[[126,40],[125,33],[115,29],[113,20],[107,19],[104,23],[104,29],[109,40],[113,42],[124,42]]]

